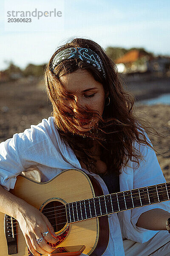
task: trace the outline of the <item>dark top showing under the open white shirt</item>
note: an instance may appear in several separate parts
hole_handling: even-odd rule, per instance
[[[115,173],[98,174],[104,180],[110,194],[120,192],[119,176]]]

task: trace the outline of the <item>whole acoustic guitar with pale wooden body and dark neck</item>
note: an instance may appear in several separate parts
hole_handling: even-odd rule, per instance
[[[170,200],[170,182],[104,195],[94,176],[66,169],[39,183],[17,176],[10,192],[39,209],[54,227],[55,247],[85,245],[83,253],[101,256],[109,241],[112,213]],[[18,222],[0,212],[0,255],[32,256]]]

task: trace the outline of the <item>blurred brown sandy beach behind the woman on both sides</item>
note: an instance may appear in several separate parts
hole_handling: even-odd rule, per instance
[[[128,81],[127,84],[127,89],[137,100],[170,92],[169,78],[161,81]],[[52,108],[47,101],[43,78],[1,83],[0,92],[0,142],[51,116]],[[135,107],[135,113],[164,134],[164,137],[148,135],[158,150],[156,154],[164,176],[170,181],[170,105],[140,105]]]

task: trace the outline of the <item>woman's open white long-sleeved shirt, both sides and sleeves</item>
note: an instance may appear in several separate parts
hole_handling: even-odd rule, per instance
[[[134,145],[139,149],[138,143]],[[138,169],[134,168],[136,163],[128,162],[125,171],[119,176],[120,191],[166,182],[155,152],[145,145],[141,145],[140,151],[145,161],[140,161]],[[39,172],[36,179],[41,182],[51,180],[65,169],[80,169],[95,176],[104,194],[109,194],[102,178],[82,169],[73,150],[62,143],[52,116],[0,143],[0,185],[6,190],[14,188],[17,175],[21,173],[28,177],[36,176],[34,171],[29,171],[30,166],[37,166]],[[170,201],[113,213],[108,218],[110,237],[103,256],[125,256],[122,237],[140,243],[152,238],[158,231],[137,227],[136,222],[142,212],[154,208],[170,212]]]

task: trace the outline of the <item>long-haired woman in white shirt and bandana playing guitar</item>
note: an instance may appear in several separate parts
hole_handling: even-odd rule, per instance
[[[102,47],[82,38],[63,45],[48,63],[45,83],[53,117],[0,144],[0,211],[17,219],[35,256],[50,252],[46,241],[58,239],[40,211],[8,192],[21,172],[37,169],[44,182],[65,169],[81,169],[105,195],[165,182],[144,125],[133,114],[134,99]],[[169,201],[108,217],[104,256],[168,255]]]

